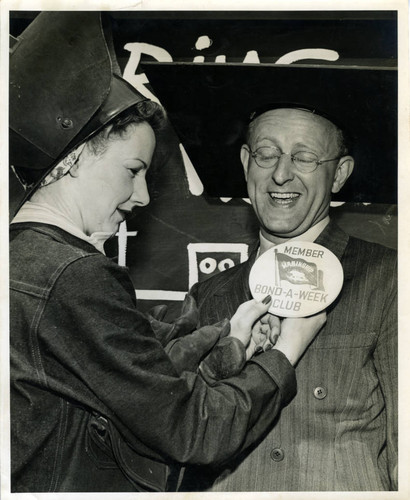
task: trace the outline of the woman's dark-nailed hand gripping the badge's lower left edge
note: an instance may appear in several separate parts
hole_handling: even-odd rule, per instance
[[[239,339],[246,348],[246,359],[249,359],[255,351],[256,343],[251,341],[251,336],[260,331],[262,318],[264,324],[267,324],[267,312],[270,307],[272,297],[268,295],[262,302],[248,300],[241,304],[231,319],[231,337]]]

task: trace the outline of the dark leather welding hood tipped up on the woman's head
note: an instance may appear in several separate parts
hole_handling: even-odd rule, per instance
[[[99,12],[42,12],[11,49],[10,165],[30,192],[70,150],[145,99],[121,78],[107,26]]]

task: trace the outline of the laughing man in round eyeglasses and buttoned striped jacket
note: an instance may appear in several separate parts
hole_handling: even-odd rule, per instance
[[[259,242],[247,262],[193,287],[201,323],[250,298],[255,259],[290,239],[330,249],[344,285],[296,367],[296,397],[251,452],[206,472],[213,491],[397,489],[396,253],[329,218],[353,170],[348,153],[342,131],[309,109],[277,107],[250,122],[240,155]]]

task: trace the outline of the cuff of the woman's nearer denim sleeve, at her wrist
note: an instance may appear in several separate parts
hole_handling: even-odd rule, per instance
[[[279,388],[285,404],[296,395],[296,372],[288,358],[277,349],[253,357],[249,363],[256,363],[263,368]]]

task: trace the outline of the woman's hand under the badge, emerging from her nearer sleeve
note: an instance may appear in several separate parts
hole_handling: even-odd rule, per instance
[[[295,365],[325,323],[325,312],[308,318],[283,319],[274,349],[281,351]]]

